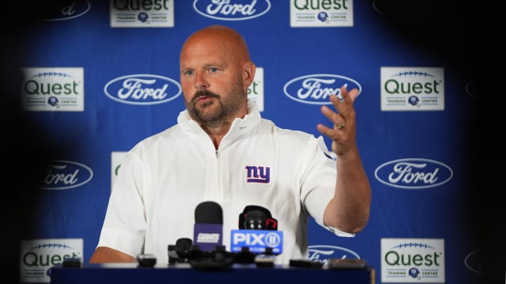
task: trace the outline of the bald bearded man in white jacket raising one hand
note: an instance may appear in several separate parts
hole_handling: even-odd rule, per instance
[[[353,99],[330,97],[337,112],[321,111],[334,124],[318,124],[330,137],[278,128],[261,119],[247,100],[255,65],[238,32],[212,25],[190,35],[180,55],[186,111],[176,126],[148,137],[122,162],[91,263],[134,262],[150,253],[167,262],[167,245],[193,236],[194,210],[203,201],[223,208],[223,245],[246,205],[260,205],[278,219],[283,253],[276,263],[308,256],[307,222],[314,217],[338,236],[367,224],[371,190],[356,145]],[[247,179],[259,166],[264,182]]]

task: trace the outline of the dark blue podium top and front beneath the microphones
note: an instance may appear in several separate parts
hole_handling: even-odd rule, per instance
[[[77,268],[61,264],[48,271],[52,284],[100,283],[353,283],[374,284],[375,270],[314,269],[292,266],[257,267],[233,264],[226,270],[194,269],[190,264],[138,266],[137,263],[82,264]],[[332,281],[332,282],[330,282]]]

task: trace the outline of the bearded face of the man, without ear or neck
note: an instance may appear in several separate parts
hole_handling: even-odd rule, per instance
[[[217,126],[237,116],[247,100],[241,67],[225,43],[190,41],[181,50],[181,88],[188,113],[197,122]]]

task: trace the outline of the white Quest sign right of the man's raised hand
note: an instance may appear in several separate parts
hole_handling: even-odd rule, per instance
[[[382,111],[444,110],[444,69],[381,67]]]

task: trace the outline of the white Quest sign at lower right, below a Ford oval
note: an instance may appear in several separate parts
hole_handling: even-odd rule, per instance
[[[445,283],[443,238],[382,238],[382,283]]]

